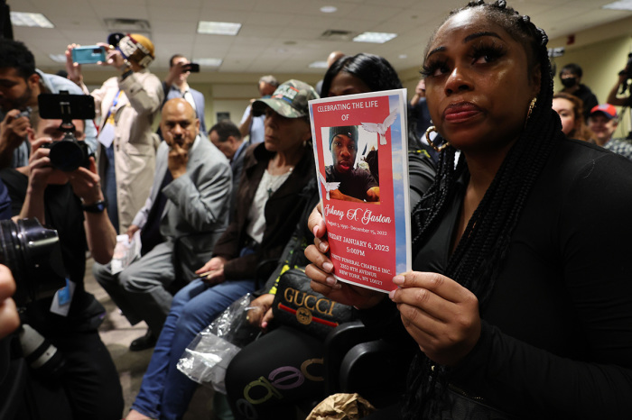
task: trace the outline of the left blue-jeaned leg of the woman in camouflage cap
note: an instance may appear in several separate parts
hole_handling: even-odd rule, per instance
[[[149,417],[158,418],[160,415],[161,399],[164,383],[171,361],[172,345],[177,331],[178,321],[193,297],[197,297],[209,288],[201,280],[193,280],[173,297],[172,307],[163,325],[163,331],[153,349],[152,360],[143,377],[143,384],[132,408]]]

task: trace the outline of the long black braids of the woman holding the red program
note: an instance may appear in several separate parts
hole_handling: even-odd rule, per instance
[[[479,307],[484,308],[502,268],[511,233],[519,220],[526,198],[541,173],[553,144],[563,134],[559,118],[553,116],[553,76],[546,50],[548,38],[544,31],[536,28],[528,16],[521,16],[513,8],[507,7],[504,0],[493,4],[482,0],[470,2],[451,12],[446,21],[461,11],[473,8],[503,26],[525,48],[529,68],[539,65],[542,73],[540,92],[533,113],[469,219],[443,273],[474,293],[479,299]],[[452,197],[456,194],[457,179],[461,176],[469,177],[464,156],[460,156],[456,165],[455,156],[456,151],[452,147],[441,152],[435,181],[414,208],[414,255],[429,240],[446,214]],[[433,366],[433,362],[423,354],[415,358],[411,372],[412,384],[409,392],[414,395],[407,398],[404,416],[418,418],[424,411],[434,412],[438,409],[430,401],[436,399],[432,398],[432,393],[437,388],[445,389],[445,383],[442,383],[445,375],[443,368]]]

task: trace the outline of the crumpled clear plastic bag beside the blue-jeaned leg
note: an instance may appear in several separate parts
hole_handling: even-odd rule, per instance
[[[253,297],[238,298],[187,346],[178,361],[178,370],[192,380],[226,394],[224,377],[228,364],[260,333],[246,320]]]

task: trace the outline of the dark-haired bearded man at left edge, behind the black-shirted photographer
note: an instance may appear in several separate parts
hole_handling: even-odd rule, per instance
[[[0,39],[0,169],[29,164],[31,146],[26,140],[30,118],[37,114],[37,96],[67,90],[82,94],[67,78],[42,73],[35,68],[33,53],[20,41]],[[97,150],[97,129],[85,122],[86,142]]]

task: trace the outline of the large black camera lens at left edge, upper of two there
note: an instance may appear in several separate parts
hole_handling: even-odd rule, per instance
[[[66,285],[57,231],[37,219],[0,221],[0,263],[14,275],[18,306],[51,297]]]

